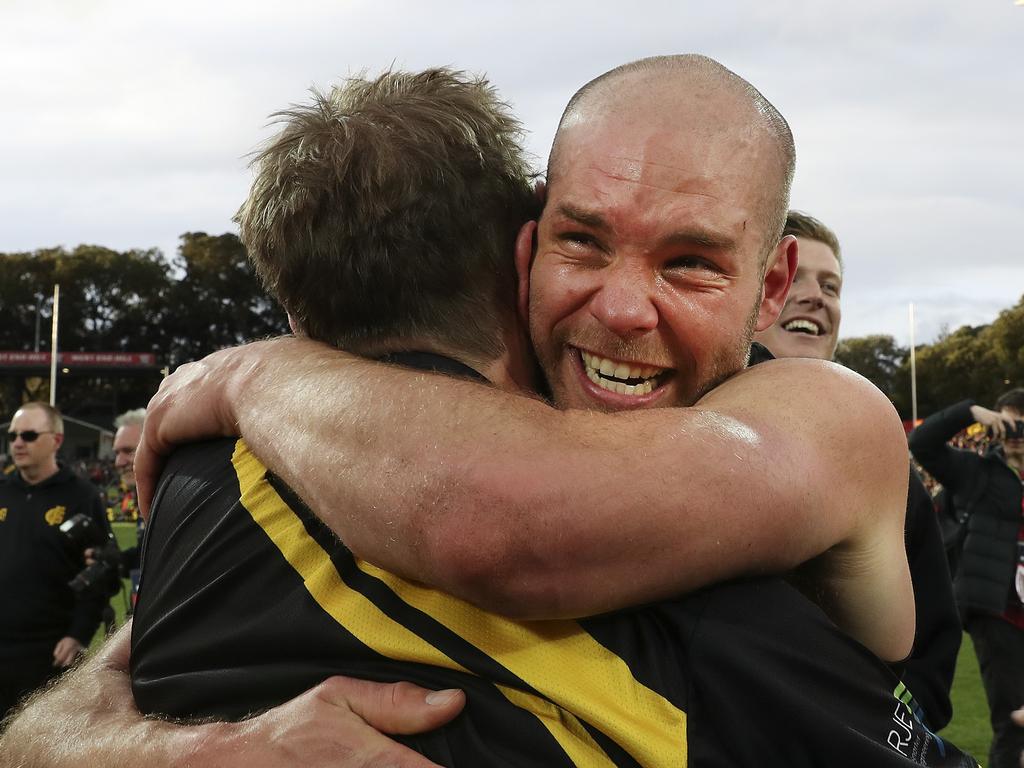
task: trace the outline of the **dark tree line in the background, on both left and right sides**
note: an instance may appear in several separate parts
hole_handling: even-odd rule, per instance
[[[54,284],[61,291],[62,350],[151,352],[173,370],[288,327],[237,236],[186,232],[171,258],[157,249],[87,245],[0,253],[0,350],[34,349],[37,317],[39,349],[49,349]],[[969,396],[990,406],[1006,389],[1024,386],[1024,296],[990,325],[958,328],[915,351],[919,415]],[[873,382],[902,418],[910,418],[907,347],[892,336],[844,339],[836,359]],[[159,381],[157,372],[72,378],[61,381],[58,404],[83,418],[134,408],[148,400]],[[11,412],[23,389],[16,376],[0,381],[0,413]]]

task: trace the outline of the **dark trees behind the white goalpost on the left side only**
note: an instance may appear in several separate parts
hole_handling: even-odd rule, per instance
[[[187,232],[177,254],[81,245],[0,253],[0,350],[50,348],[53,286],[60,286],[60,351],[148,352],[171,370],[225,346],[287,332],[284,311],[263,291],[245,248],[231,233]],[[38,318],[38,321],[37,321]],[[37,335],[37,324],[39,333]],[[60,379],[66,414],[109,421],[144,406],[159,371]],[[33,382],[0,380],[0,413],[9,414]],[[3,417],[0,417],[3,418]]]

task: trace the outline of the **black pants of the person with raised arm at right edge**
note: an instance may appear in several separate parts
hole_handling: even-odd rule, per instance
[[[1024,728],[1010,720],[1010,713],[1024,706],[1024,630],[998,616],[974,615],[967,631],[978,655],[992,721],[988,768],[1020,768]]]

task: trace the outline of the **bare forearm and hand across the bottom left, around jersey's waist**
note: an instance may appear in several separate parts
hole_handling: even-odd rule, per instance
[[[0,767],[437,768],[376,729],[430,730],[465,703],[459,691],[339,677],[240,723],[143,718],[128,681],[130,631],[130,625],[122,628],[94,656],[30,699],[0,736]]]

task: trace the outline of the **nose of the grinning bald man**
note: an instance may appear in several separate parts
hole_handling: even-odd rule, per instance
[[[657,328],[656,278],[641,264],[601,270],[602,284],[591,299],[591,314],[616,336],[630,338]]]

